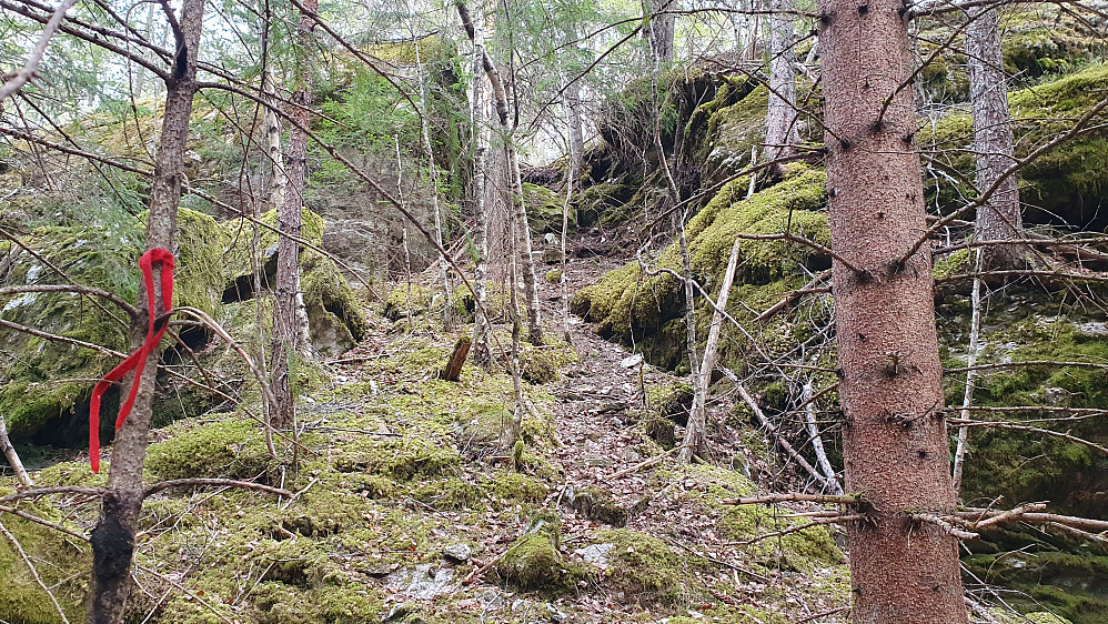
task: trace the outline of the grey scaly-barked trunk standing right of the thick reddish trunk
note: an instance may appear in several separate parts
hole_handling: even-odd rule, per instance
[[[974,108],[974,151],[977,153],[977,188],[993,187],[1010,168],[1013,158],[1011,112],[1000,56],[1000,30],[995,7],[969,9],[966,28],[966,63],[969,66],[969,100]],[[1024,238],[1019,213],[1019,187],[1009,175],[977,208],[975,235],[979,241]],[[983,254],[985,270],[1014,269],[1023,264],[1023,245],[990,245]]]

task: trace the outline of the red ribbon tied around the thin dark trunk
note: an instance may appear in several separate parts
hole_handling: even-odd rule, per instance
[[[100,472],[100,397],[118,382],[123,375],[134,371],[134,380],[131,382],[131,391],[127,395],[127,401],[119,409],[119,416],[115,419],[115,431],[123,426],[123,421],[131,413],[134,406],[134,397],[139,394],[139,381],[142,378],[142,369],[147,365],[147,356],[158,346],[169,328],[169,320],[162,323],[160,330],[154,330],[155,319],[159,316],[154,312],[154,274],[153,263],[162,264],[162,305],[163,313],[173,309],[173,254],[164,249],[152,249],[142,254],[139,259],[139,269],[142,270],[142,279],[147,283],[147,318],[150,325],[147,328],[147,339],[142,341],[142,346],[138,351],[128,355],[123,363],[115,366],[102,380],[97,382],[92,389],[92,401],[89,404],[89,462],[92,464],[92,472]]]

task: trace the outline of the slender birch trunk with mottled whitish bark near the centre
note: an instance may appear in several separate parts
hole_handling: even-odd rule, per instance
[[[476,299],[473,313],[473,362],[476,364],[487,364],[490,360],[488,350],[488,318],[487,312],[487,281],[488,281],[488,204],[485,201],[485,167],[488,154],[488,130],[486,114],[487,93],[485,84],[484,59],[485,59],[485,30],[484,10],[479,4],[477,11],[472,19],[473,34],[473,83],[471,87],[470,123],[473,137],[471,144],[473,150],[473,220],[477,240],[474,241],[476,248],[476,259],[474,260],[473,290]]]

